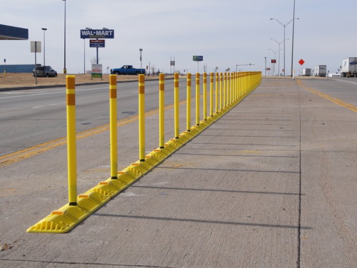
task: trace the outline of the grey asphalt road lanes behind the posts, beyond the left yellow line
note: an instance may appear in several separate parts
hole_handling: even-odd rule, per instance
[[[180,80],[180,101],[186,80]],[[159,81],[145,82],[145,111],[157,109]],[[194,89],[194,88],[193,88]],[[109,84],[76,87],[77,132],[109,123]],[[192,91],[192,96],[194,90]],[[138,83],[118,83],[118,119],[138,114]],[[173,103],[173,80],[165,82],[165,105]],[[66,89],[0,92],[0,155],[66,136]]]

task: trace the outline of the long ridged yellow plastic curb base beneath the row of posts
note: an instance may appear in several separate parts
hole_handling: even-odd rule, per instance
[[[163,149],[155,149],[146,155],[145,161],[137,161],[123,169],[121,172],[118,172],[117,179],[109,178],[106,181],[99,182],[99,184],[94,186],[92,189],[80,194],[78,196],[77,205],[71,206],[66,204],[60,209],[52,211],[40,222],[27,229],[27,232],[68,232],[98,208],[107,203],[112,197],[116,196],[119,192],[139,180],[152,168],[160,164],[176,150],[212,125],[217,119],[239,104],[251,91],[247,92],[241,96],[241,98],[223,108],[218,113],[215,113],[213,116],[208,117],[206,120],[201,120],[198,126],[192,126],[190,131],[183,132],[178,139],[170,139],[167,143],[165,143]]]

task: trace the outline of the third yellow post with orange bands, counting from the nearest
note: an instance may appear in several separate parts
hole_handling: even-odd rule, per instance
[[[139,75],[139,161],[145,162],[145,75]]]

